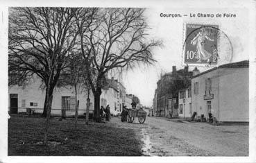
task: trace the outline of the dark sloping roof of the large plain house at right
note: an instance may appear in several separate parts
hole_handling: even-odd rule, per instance
[[[208,69],[207,71],[203,71],[200,74],[196,74],[195,76],[192,76],[191,78],[196,78],[203,74],[207,74],[208,72],[214,71],[215,69],[218,69],[218,68],[223,69],[223,68],[248,68],[248,67],[249,67],[249,60],[243,60],[240,62],[232,62],[232,63],[228,63],[225,65],[220,65],[219,67],[214,67],[212,69]]]

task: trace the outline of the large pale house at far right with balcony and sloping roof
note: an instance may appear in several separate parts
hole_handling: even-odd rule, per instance
[[[191,79],[192,112],[217,121],[249,121],[249,62],[241,61],[204,71]]]

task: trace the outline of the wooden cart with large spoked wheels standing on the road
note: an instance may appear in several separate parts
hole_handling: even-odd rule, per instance
[[[139,123],[144,123],[146,120],[146,112],[142,109],[128,109],[127,121],[133,123],[135,117],[138,117]]]

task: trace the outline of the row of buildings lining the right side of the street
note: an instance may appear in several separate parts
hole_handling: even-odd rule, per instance
[[[187,85],[180,87],[173,81],[167,83],[171,85],[168,87],[178,87],[178,92],[175,89],[169,90],[172,96],[161,94],[158,83],[164,83],[165,76],[163,76],[155,90],[153,112],[156,116],[165,117],[187,119],[194,114],[195,119],[205,117],[205,119],[215,118],[216,121],[248,122],[248,67],[248,60],[244,60],[214,67],[201,73],[195,68],[188,76],[183,74],[183,80],[189,80]],[[179,74],[182,75],[182,71],[186,72],[187,69],[188,67],[179,70]],[[174,74],[176,69],[173,69],[169,76]],[[180,79],[172,78],[174,81]]]

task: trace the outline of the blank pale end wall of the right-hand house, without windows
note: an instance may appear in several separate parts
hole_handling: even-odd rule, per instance
[[[220,121],[249,121],[248,68],[225,69],[220,77]]]

